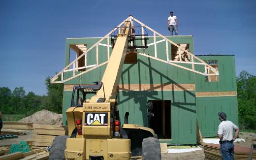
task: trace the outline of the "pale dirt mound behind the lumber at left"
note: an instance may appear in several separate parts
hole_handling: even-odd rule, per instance
[[[19,122],[32,122],[33,124],[59,126],[62,123],[62,114],[53,113],[48,110],[41,110],[35,112],[32,116],[19,120]]]

